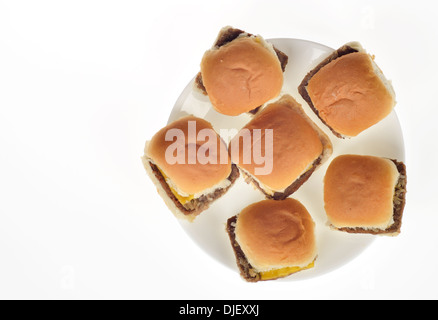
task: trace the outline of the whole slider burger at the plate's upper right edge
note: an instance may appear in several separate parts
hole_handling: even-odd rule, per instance
[[[322,61],[298,91],[338,138],[357,136],[389,115],[396,103],[390,81],[357,42]]]

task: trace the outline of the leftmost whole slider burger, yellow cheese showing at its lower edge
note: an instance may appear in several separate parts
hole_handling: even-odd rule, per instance
[[[193,116],[161,129],[146,142],[144,152],[144,167],[158,193],[178,218],[189,221],[224,195],[239,177],[211,124]]]

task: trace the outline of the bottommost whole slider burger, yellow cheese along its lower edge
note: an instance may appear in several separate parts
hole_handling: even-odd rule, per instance
[[[274,280],[314,266],[315,223],[297,200],[263,200],[227,222],[241,276]]]

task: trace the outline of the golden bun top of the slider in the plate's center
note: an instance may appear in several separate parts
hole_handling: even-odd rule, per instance
[[[251,132],[251,143],[254,146],[254,132],[261,130],[261,154],[266,155],[269,144],[264,138],[265,129],[272,129],[272,172],[269,174],[257,174],[260,167],[257,161],[245,163],[245,153],[248,146],[245,145],[244,130]],[[239,142],[238,142],[239,141]],[[269,104],[245,126],[231,141],[231,148],[239,146],[238,157],[231,149],[231,157],[234,163],[254,176],[264,188],[282,192],[301,176],[313,161],[323,151],[321,137],[315,125],[307,118],[300,104],[289,95]],[[331,147],[331,146],[330,146]],[[252,152],[254,154],[254,147]],[[270,159],[266,159],[269,161]],[[246,161],[248,162],[248,161]]]

